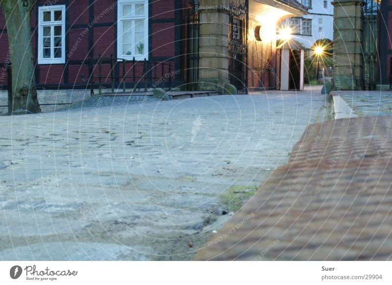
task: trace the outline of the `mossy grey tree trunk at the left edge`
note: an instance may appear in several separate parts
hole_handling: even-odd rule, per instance
[[[34,0],[0,0],[12,63],[12,110],[38,113],[33,49],[31,46],[31,11]]]

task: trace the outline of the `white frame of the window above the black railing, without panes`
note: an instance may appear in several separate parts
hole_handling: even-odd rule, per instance
[[[144,16],[127,16],[123,17],[123,6],[127,4],[144,4]],[[144,53],[143,54],[123,54],[123,21],[124,20],[141,20],[144,19]],[[132,27],[134,28],[134,27]],[[134,32],[134,30],[132,30]],[[135,57],[135,60],[144,60],[145,58],[148,60],[148,0],[119,0],[117,7],[117,57],[127,60],[132,60]],[[132,49],[136,49],[136,43],[132,43]],[[120,59],[119,59],[120,60]]]

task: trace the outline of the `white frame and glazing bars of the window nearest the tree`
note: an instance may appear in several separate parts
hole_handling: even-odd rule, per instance
[[[61,21],[54,21],[50,19],[50,22],[43,22],[44,12],[59,11],[61,10]],[[38,7],[38,64],[64,64],[65,63],[65,5],[53,5],[53,6],[40,6]],[[51,13],[54,16],[54,13]],[[61,58],[54,58],[54,26],[61,25]],[[50,41],[50,53],[53,57],[44,58],[43,49],[43,35],[44,26],[51,26],[51,41]]]

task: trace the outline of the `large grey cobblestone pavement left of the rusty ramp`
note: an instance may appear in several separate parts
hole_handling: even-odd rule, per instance
[[[319,94],[105,97],[1,117],[0,259],[192,259],[329,118]]]

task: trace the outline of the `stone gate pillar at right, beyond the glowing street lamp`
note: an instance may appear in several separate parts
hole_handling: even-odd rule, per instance
[[[362,0],[334,0],[334,89],[362,89]]]

